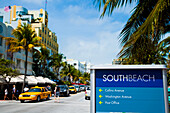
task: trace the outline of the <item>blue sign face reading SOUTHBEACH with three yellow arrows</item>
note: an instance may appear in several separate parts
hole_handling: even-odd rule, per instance
[[[96,113],[165,113],[162,70],[96,69]]]

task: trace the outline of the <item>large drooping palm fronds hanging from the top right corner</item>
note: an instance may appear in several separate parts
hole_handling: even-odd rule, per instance
[[[95,0],[99,8],[104,4],[101,17],[104,17],[106,12],[111,15],[115,8],[133,2],[133,0]],[[155,0],[154,2],[153,0],[137,0],[137,6],[133,9],[132,16],[119,35],[123,48],[118,56],[135,58],[135,60],[136,57],[145,57],[143,59],[146,60],[148,57],[149,59],[154,58],[150,56],[156,54],[155,50],[157,50],[162,35],[170,31],[169,15],[169,0]],[[152,49],[150,50],[150,48]],[[144,52],[143,56],[140,56],[141,52]]]

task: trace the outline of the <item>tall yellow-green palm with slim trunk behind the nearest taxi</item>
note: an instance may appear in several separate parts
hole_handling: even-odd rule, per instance
[[[23,91],[27,75],[28,52],[31,51],[33,47],[42,45],[39,43],[41,38],[36,36],[35,31],[32,30],[31,25],[29,24],[18,26],[13,30],[12,35],[14,35],[15,38],[9,38],[8,40],[10,44],[9,51],[19,51],[20,49],[25,50],[25,75],[22,86]]]

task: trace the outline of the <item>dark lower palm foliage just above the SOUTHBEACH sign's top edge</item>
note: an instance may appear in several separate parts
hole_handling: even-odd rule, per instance
[[[130,52],[126,49],[121,51],[119,55],[126,59],[126,64],[166,64],[170,52],[170,37],[158,44],[153,45],[150,42],[148,42],[148,39],[141,40],[141,43],[137,41],[140,44],[131,45],[132,50]]]

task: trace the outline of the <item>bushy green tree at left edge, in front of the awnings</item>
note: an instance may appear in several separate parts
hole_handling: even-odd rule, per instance
[[[11,60],[0,59],[0,75],[2,75],[5,80],[8,77],[8,80],[6,80],[8,84],[10,83],[11,78],[18,75],[18,71],[12,68],[13,64],[14,62]]]

